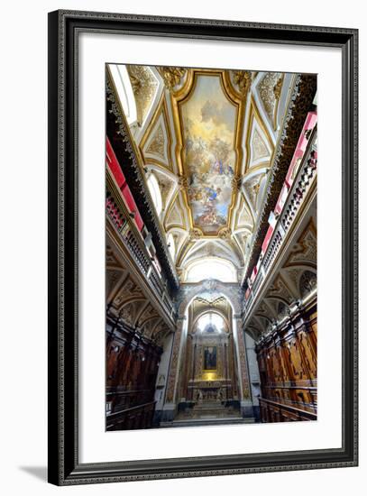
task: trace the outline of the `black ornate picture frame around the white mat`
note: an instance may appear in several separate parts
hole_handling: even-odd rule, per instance
[[[83,32],[334,47],[341,51],[342,447],[79,462],[78,37]],[[49,482],[127,482],[358,464],[357,53],[358,32],[353,29],[78,11],[49,14]]]

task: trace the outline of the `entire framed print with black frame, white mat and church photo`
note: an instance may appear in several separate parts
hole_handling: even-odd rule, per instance
[[[49,481],[357,464],[357,31],[49,14]]]

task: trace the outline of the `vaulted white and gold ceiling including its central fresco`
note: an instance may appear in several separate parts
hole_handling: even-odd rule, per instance
[[[294,77],[250,70],[109,66],[181,281],[203,257],[241,280]],[[208,274],[208,277],[215,274]]]

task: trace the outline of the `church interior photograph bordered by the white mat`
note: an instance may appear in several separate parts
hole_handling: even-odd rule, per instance
[[[317,419],[317,77],[106,65],[106,430]]]

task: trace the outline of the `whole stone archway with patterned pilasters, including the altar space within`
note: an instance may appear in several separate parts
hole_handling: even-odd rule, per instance
[[[162,424],[253,421],[252,390],[234,284],[187,284],[179,301]]]

